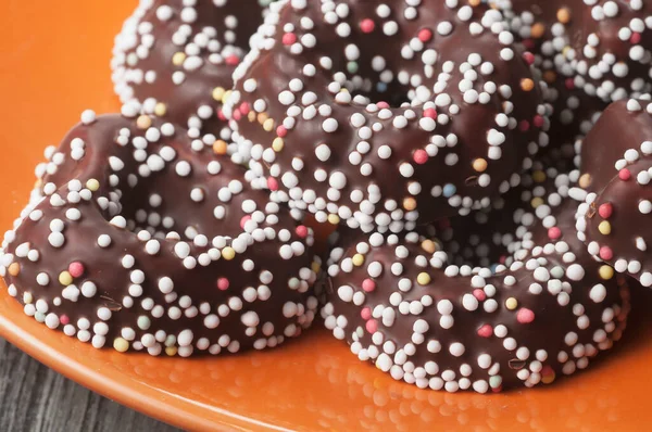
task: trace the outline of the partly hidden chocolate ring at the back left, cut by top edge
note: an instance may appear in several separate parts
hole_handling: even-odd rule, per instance
[[[115,92],[187,127],[193,145],[236,153],[222,100],[269,1],[141,0],[115,38]]]

